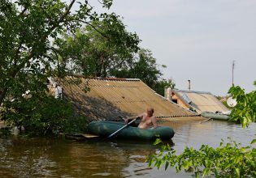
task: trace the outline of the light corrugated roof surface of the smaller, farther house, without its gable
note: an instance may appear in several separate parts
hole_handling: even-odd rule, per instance
[[[184,91],[184,90],[174,90],[179,95],[187,95],[189,100],[192,101],[193,108],[196,108],[198,113],[203,111],[208,112],[226,112],[228,108],[226,108],[214,95],[210,92],[203,91]],[[185,100],[184,100],[185,101]]]

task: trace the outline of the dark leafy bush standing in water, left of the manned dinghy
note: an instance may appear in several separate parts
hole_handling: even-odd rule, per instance
[[[72,104],[51,95],[6,102],[1,117],[9,125],[24,127],[26,133],[36,135],[81,132],[87,124],[85,117],[76,116]]]

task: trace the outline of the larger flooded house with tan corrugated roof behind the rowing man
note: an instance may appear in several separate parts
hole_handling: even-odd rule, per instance
[[[54,95],[72,101],[76,112],[89,120],[122,120],[136,116],[146,108],[154,108],[157,118],[197,117],[158,95],[136,78],[85,78],[80,75],[49,78],[48,87]]]

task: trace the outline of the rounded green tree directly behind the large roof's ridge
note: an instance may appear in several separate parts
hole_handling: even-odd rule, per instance
[[[63,34],[63,39],[55,41],[61,52],[59,67],[71,73],[109,77],[112,70],[132,59],[139,41],[136,33],[125,30],[120,19],[115,23],[109,18],[94,21],[93,27]]]

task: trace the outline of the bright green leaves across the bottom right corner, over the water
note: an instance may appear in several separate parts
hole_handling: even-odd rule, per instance
[[[155,142],[159,143],[157,140]],[[256,142],[254,140],[251,144]],[[166,152],[167,151],[167,152]],[[176,150],[171,150],[170,146],[162,146],[158,155],[150,155],[147,158],[149,166],[154,163],[155,167],[176,167],[176,172],[182,169],[186,172],[194,172],[195,176],[216,177],[245,177],[256,176],[256,148],[250,146],[241,146],[235,141],[230,141],[224,145],[212,148],[202,145],[199,150],[186,147],[180,155],[176,155]]]

